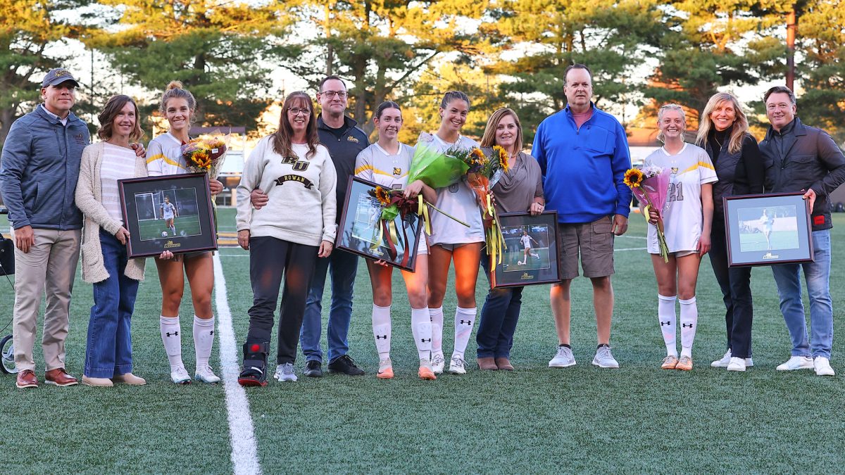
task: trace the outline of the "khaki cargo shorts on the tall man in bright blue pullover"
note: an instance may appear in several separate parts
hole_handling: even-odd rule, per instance
[[[584,223],[558,223],[558,254],[560,277],[574,279],[578,276],[578,254],[585,277],[612,276],[613,270],[613,219]]]

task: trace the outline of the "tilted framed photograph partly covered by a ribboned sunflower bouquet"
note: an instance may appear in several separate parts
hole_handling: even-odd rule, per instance
[[[377,183],[358,177],[349,178],[335,247],[367,259],[384,260],[388,265],[413,272],[417,265],[417,243],[424,239],[421,226],[423,221],[412,213],[406,214],[404,218],[396,216],[393,221],[396,229],[396,257],[390,259],[388,233],[384,232],[379,222],[382,205],[374,196],[377,186]],[[404,260],[406,264],[402,265]]]

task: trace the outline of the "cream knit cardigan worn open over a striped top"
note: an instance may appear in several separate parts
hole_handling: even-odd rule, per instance
[[[103,264],[100,246],[100,228],[109,234],[117,234],[120,223],[109,216],[102,205],[102,183],[100,167],[105,142],[88,145],[82,150],[79,163],[79,181],[76,182],[76,207],[85,215],[82,227],[82,280],[88,283],[105,281],[110,276]],[[147,176],[147,161],[143,156],[135,157],[135,177]],[[129,259],[123,272],[130,279],[144,280],[146,259]]]

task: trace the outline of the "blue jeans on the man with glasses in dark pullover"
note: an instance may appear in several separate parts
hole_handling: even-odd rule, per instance
[[[323,350],[319,347],[323,335],[323,289],[325,274],[331,276],[331,308],[329,310],[329,362],[349,351],[349,322],[352,320],[352,287],[358,271],[358,256],[339,249],[327,258],[318,258],[314,266],[311,291],[305,304],[303,331],[299,336],[305,353],[305,361],[323,361]]]

